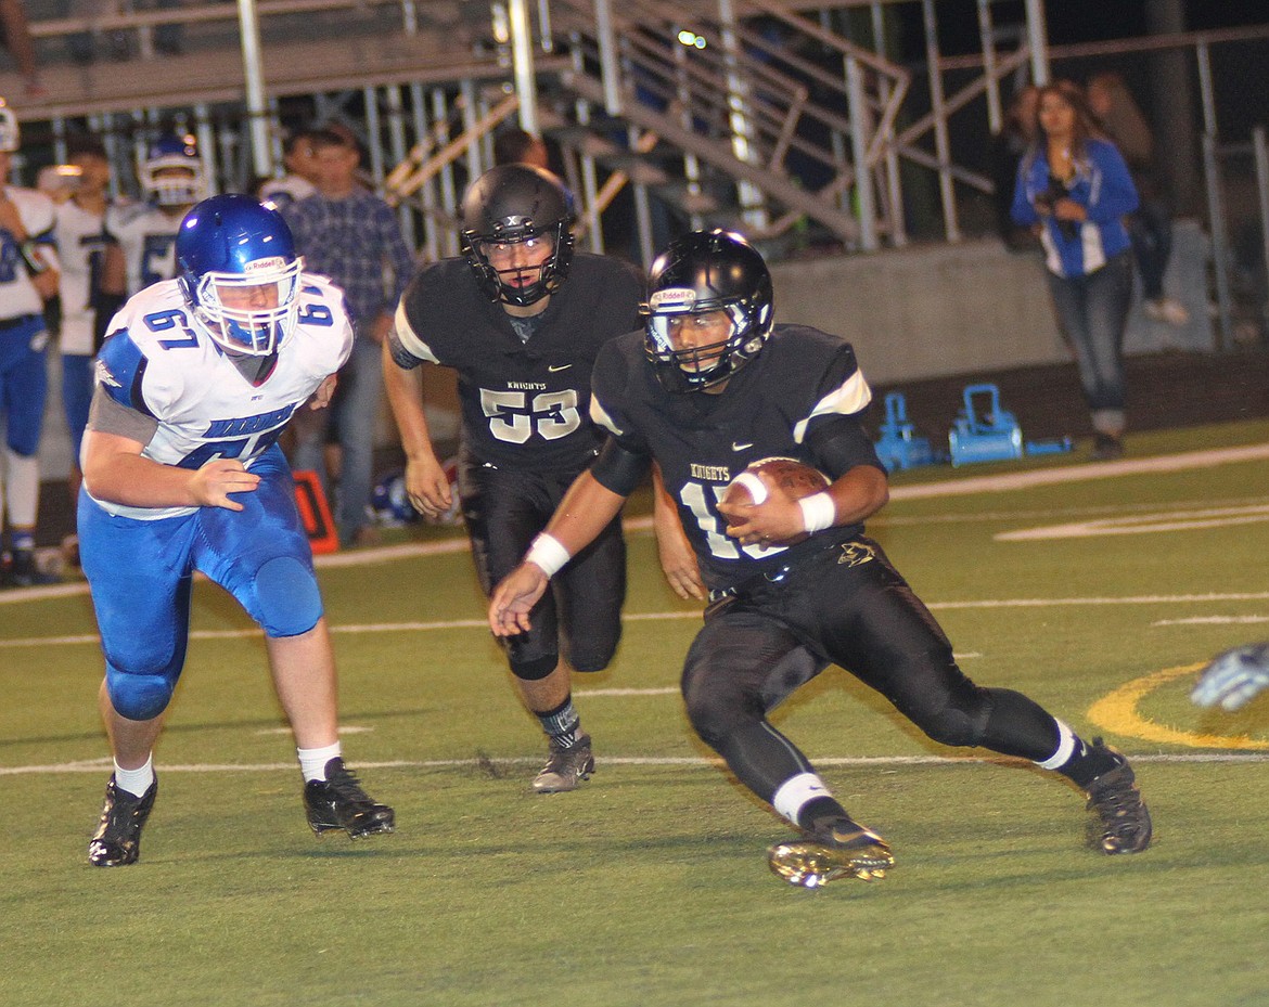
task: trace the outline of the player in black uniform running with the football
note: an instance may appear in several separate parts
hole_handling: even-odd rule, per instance
[[[888,845],[846,814],[766,719],[827,662],[934,741],[1029,758],[1072,780],[1099,813],[1103,852],[1145,850],[1150,815],[1127,760],[1019,692],[970,681],[934,616],[864,535],[888,496],[860,424],[869,400],[849,344],[773,325],[770,275],[744,238],[712,231],[673,242],[652,265],[645,331],[608,344],[595,363],[591,413],[612,436],[495,590],[494,633],[530,629],[555,571],[588,548],[655,458],[712,597],[683,671],[688,718],[802,831],[770,848],[778,875],[813,888],[893,864]],[[720,502],[737,473],[773,455],[832,482],[803,500]],[[783,544],[803,533],[812,534]]]

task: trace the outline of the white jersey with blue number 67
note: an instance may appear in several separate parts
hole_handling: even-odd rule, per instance
[[[157,421],[145,458],[181,468],[237,458],[250,467],[352,348],[339,289],[305,273],[299,322],[278,348],[268,378],[251,384],[194,320],[179,282],[166,280],[132,297],[114,316],[98,355],[96,382],[119,405]],[[98,502],[110,514],[141,520],[195,510]]]

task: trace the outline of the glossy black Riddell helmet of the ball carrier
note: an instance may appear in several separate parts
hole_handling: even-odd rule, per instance
[[[694,231],[661,252],[648,274],[647,359],[666,391],[699,392],[727,380],[758,356],[772,335],[772,274],[740,235]],[[731,334],[722,342],[679,350],[667,321],[723,309]]]

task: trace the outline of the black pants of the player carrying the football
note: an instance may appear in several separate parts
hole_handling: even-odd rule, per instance
[[[1041,706],[966,677],[934,616],[871,539],[830,544],[779,583],[749,587],[707,611],[683,696],[700,738],[763,800],[813,771],[766,713],[829,662],[943,744],[1032,761],[1057,751],[1057,724]]]

